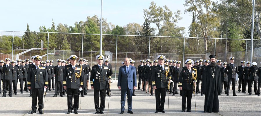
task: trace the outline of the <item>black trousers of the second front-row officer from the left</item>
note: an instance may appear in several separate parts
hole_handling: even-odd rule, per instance
[[[67,88],[68,111],[78,111],[79,108],[79,89]]]

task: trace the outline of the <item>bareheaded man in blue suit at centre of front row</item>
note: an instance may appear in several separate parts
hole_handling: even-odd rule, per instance
[[[132,109],[132,93],[137,86],[136,82],[136,68],[130,65],[128,57],[124,60],[124,66],[119,68],[118,88],[121,90],[121,113],[124,113],[124,106],[126,100],[126,93],[128,93],[128,113],[133,114]]]

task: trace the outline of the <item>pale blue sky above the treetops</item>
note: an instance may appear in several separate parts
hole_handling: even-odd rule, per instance
[[[102,14],[107,22],[124,26],[128,23],[144,21],[143,9],[150,6],[152,0],[103,0]],[[157,6],[164,5],[172,12],[181,10],[183,18],[177,26],[186,28],[192,21],[192,14],[185,13],[184,0],[153,0]],[[75,21],[85,21],[87,16],[100,17],[100,0],[8,0],[0,1],[0,30],[1,31],[25,31],[27,23],[31,31],[39,31],[39,27],[45,25],[50,28],[52,19],[55,26],[58,23],[73,26]],[[155,27],[155,25],[151,25]],[[2,35],[0,33],[0,35]]]

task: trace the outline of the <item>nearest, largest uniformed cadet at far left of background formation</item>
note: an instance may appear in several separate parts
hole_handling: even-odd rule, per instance
[[[13,68],[10,65],[10,58],[6,58],[6,65],[3,65],[3,96],[6,97],[7,92],[7,86],[8,86],[8,92],[9,97],[12,97],[12,71]]]

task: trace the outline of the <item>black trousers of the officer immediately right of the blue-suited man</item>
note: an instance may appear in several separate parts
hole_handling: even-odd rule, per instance
[[[166,97],[167,88],[157,88],[155,89],[155,97],[156,97],[156,110],[162,111],[164,110],[165,97]]]

